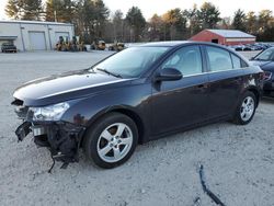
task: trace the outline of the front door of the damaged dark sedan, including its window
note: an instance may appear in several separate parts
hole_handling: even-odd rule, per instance
[[[182,72],[178,81],[152,85],[151,126],[153,135],[194,125],[207,118],[207,73],[203,69],[199,46],[185,46],[172,54],[159,69]]]

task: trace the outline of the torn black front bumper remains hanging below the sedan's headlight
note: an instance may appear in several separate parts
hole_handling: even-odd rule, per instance
[[[34,142],[38,147],[47,147],[55,161],[64,162],[67,168],[70,162],[79,161],[79,148],[85,127],[65,122],[45,122],[32,124],[24,122],[15,131],[20,141],[33,131]],[[53,164],[54,165],[54,164]]]

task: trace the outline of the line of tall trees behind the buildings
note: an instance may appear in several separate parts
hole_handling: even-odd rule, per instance
[[[76,35],[90,44],[106,42],[152,42],[187,39],[204,28],[241,30],[258,41],[274,41],[274,16],[271,10],[244,13],[237,10],[232,18],[220,18],[219,9],[210,2],[199,8],[175,8],[162,15],[153,14],[148,21],[138,7],[127,13],[111,14],[103,0],[9,0],[5,13],[14,20],[57,21],[72,23]]]

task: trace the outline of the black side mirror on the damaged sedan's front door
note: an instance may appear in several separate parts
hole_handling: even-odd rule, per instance
[[[175,81],[182,79],[183,75],[178,69],[161,69],[155,77],[155,81]]]

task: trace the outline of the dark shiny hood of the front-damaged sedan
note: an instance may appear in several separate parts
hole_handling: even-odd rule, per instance
[[[27,106],[44,106],[95,95],[126,83],[130,83],[130,79],[80,70],[26,82],[14,91],[13,96]]]

